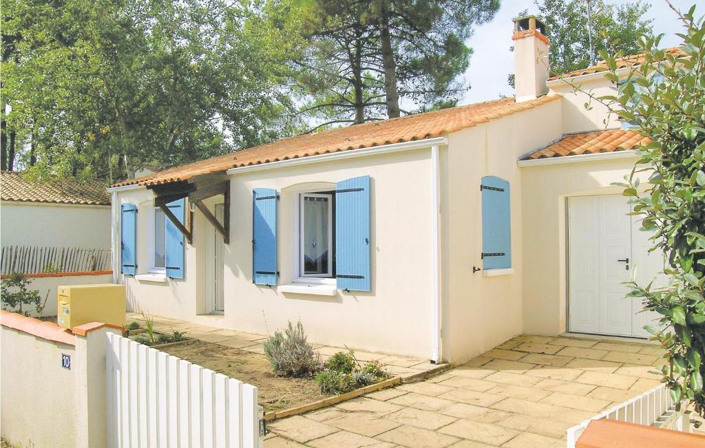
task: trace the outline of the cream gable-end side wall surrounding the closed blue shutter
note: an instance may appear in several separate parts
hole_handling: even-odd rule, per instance
[[[443,159],[443,357],[464,362],[522,332],[522,191],[517,158],[561,135],[560,100],[448,135]],[[510,183],[512,269],[482,268],[481,179]]]

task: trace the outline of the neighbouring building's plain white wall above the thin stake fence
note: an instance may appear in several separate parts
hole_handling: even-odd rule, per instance
[[[110,249],[110,206],[2,201],[3,246]]]

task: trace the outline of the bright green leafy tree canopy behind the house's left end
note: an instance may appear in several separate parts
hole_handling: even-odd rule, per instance
[[[20,165],[116,180],[289,135],[295,39],[265,14],[246,0],[6,1],[4,130]]]

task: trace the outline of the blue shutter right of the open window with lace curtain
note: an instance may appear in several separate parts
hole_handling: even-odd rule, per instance
[[[370,290],[369,176],[336,185],[336,282],[338,289]]]

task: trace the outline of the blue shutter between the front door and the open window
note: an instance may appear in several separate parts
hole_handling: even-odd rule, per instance
[[[275,189],[255,188],[252,192],[252,282],[276,285],[276,202]]]

